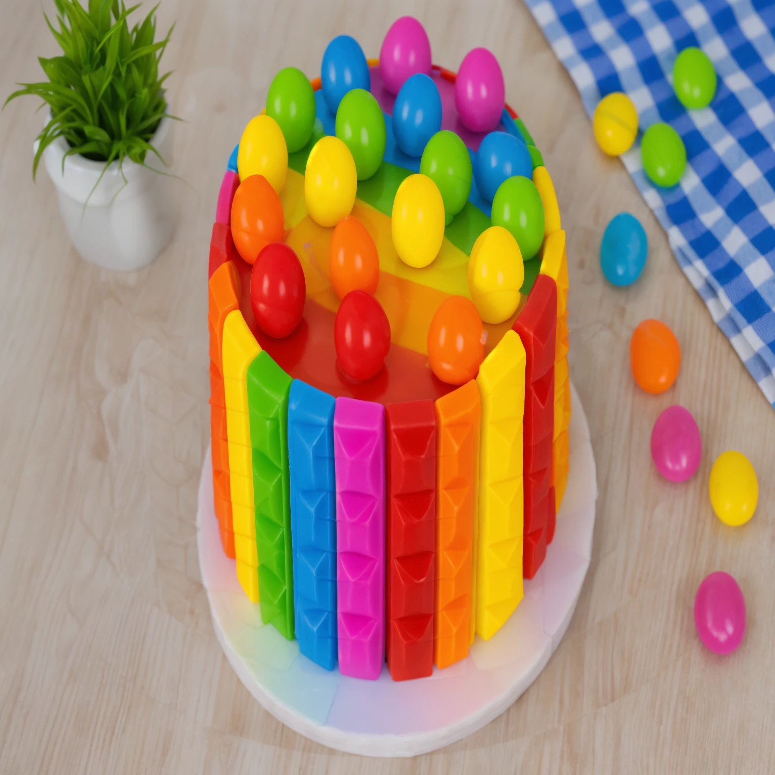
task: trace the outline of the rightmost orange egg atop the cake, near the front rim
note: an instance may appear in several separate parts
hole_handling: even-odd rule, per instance
[[[484,360],[483,330],[473,301],[464,296],[444,299],[428,329],[428,360],[433,374],[453,385],[474,379]]]

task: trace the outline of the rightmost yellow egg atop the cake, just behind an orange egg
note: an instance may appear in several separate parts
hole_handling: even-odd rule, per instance
[[[468,288],[485,323],[508,320],[519,306],[525,280],[522,253],[512,232],[491,226],[477,237],[468,260]]]

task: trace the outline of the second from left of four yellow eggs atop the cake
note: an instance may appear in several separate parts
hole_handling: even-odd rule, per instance
[[[355,204],[358,174],[350,149],[338,137],[322,137],[307,159],[304,196],[312,220],[336,226]]]

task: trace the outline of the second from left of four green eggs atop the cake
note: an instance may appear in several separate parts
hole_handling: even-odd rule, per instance
[[[382,164],[387,134],[385,117],[374,95],[351,89],[336,110],[336,136],[350,149],[359,181],[370,178]]]

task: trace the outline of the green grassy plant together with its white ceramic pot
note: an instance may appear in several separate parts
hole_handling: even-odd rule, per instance
[[[173,229],[171,119],[156,41],[156,7],[129,27],[137,6],[119,0],[54,0],[62,53],[39,57],[47,81],[19,84],[47,103],[34,145],[57,188],[65,228],[78,253],[100,267],[135,270],[151,263]],[[4,107],[5,107],[4,105]]]

